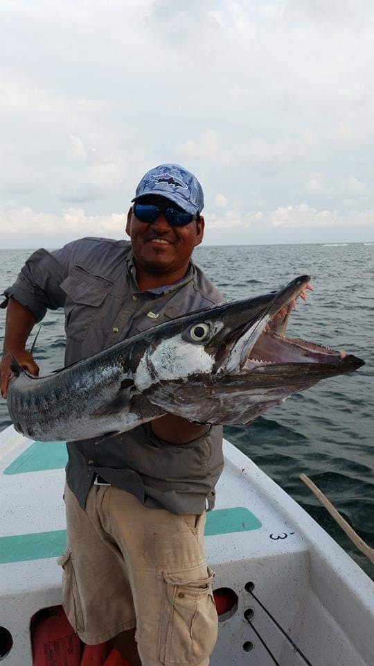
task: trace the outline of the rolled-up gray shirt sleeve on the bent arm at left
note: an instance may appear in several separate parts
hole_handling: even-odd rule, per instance
[[[63,307],[66,294],[60,288],[67,275],[71,249],[68,246],[48,252],[41,248],[28,257],[17,280],[6,291],[6,300],[1,307],[6,307],[9,298],[15,298],[27,307],[36,321],[41,321],[47,309]]]

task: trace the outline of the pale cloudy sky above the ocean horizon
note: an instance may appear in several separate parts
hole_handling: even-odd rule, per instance
[[[122,238],[193,171],[205,244],[374,241],[372,0],[1,0],[0,248]]]

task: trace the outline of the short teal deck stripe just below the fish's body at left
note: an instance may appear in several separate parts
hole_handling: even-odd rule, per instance
[[[64,442],[33,442],[4,470],[4,474],[60,470],[66,466],[67,451]]]

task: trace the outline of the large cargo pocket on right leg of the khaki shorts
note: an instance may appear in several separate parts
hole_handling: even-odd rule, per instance
[[[213,651],[218,631],[214,574],[209,567],[202,574],[191,580],[191,572],[163,572],[159,660],[165,666],[199,664]]]

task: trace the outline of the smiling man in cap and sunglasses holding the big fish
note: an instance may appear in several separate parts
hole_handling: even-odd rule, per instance
[[[127,216],[128,241],[86,238],[29,257],[9,299],[10,357],[47,308],[64,307],[66,364],[222,300],[190,262],[204,234],[202,187],[177,164],[151,169]],[[112,640],[132,666],[208,664],[217,638],[205,509],[222,472],[222,429],[166,415],[124,434],[68,443],[66,614],[89,644]]]

